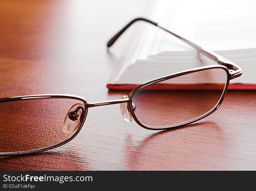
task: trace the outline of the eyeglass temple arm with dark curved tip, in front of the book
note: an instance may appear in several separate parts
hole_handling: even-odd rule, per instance
[[[201,52],[202,54],[204,54],[205,56],[209,57],[210,59],[216,61],[218,64],[226,66],[229,70],[230,70],[230,74],[231,74],[231,79],[237,78],[239,76],[242,75],[242,69],[237,66],[236,64],[234,64],[233,62],[231,62],[230,60],[227,60],[223,57],[221,57],[220,55],[216,54],[215,52],[209,51],[209,50],[205,50],[202,47],[198,46],[197,44],[175,34],[174,32],[171,32],[161,26],[159,26],[157,23],[150,21],[148,19],[145,18],[136,18],[133,19],[131,22],[129,22],[124,28],[122,28],[117,34],[115,34],[115,36],[113,36],[107,43],[107,47],[111,47],[115,41],[125,32],[125,30],[127,30],[127,28],[129,28],[129,26],[131,26],[133,23],[135,23],[136,21],[145,21],[147,23],[150,23],[154,26],[157,26],[163,30],[165,30],[166,32],[174,35],[175,37],[179,38],[180,40],[182,40],[183,42],[187,43],[188,45],[192,46],[193,48],[195,48],[196,50],[198,50],[198,52]]]

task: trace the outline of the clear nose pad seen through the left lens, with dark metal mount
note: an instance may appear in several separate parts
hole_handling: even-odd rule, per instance
[[[83,111],[84,107],[80,103],[72,105],[68,110],[63,122],[63,131],[65,134],[72,134],[77,130],[81,123],[80,117]]]

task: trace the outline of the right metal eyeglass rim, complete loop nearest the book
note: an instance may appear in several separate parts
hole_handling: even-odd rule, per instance
[[[189,121],[185,121],[183,123],[178,123],[178,124],[169,125],[169,126],[160,126],[160,127],[151,127],[151,126],[143,125],[138,120],[138,118],[136,117],[136,114],[135,114],[135,112],[133,110],[133,107],[132,107],[132,98],[138,91],[140,91],[140,90],[142,90],[142,89],[144,89],[148,86],[151,86],[155,83],[159,83],[161,81],[165,81],[165,80],[172,79],[172,78],[175,78],[175,77],[183,76],[183,75],[186,75],[186,74],[191,74],[191,73],[194,73],[194,72],[200,72],[200,71],[203,71],[203,70],[210,70],[210,69],[216,69],[216,68],[221,68],[227,73],[227,81],[226,81],[224,90],[222,92],[222,95],[221,95],[218,103],[214,106],[214,108],[212,108],[211,110],[209,110],[205,114],[202,114],[199,117],[196,117],[196,118],[191,119]],[[203,119],[203,118],[207,117],[208,115],[212,114],[214,111],[216,111],[220,107],[220,105],[221,105],[221,103],[222,103],[222,101],[225,97],[225,94],[227,92],[227,88],[228,88],[228,85],[229,85],[229,82],[230,82],[231,78],[232,78],[232,76],[231,76],[230,71],[228,70],[228,68],[226,66],[222,66],[222,65],[203,66],[203,67],[199,67],[199,68],[193,68],[193,69],[190,69],[190,70],[185,70],[185,71],[182,71],[182,72],[177,72],[175,74],[171,74],[171,75],[164,76],[164,77],[161,77],[161,78],[157,78],[157,79],[148,81],[146,83],[143,83],[140,86],[137,86],[136,88],[134,88],[130,92],[129,98],[131,99],[131,101],[127,103],[128,104],[128,109],[129,109],[130,114],[131,114],[132,118],[134,119],[134,121],[136,121],[136,123],[138,125],[140,125],[141,127],[145,128],[145,129],[149,129],[149,130],[167,130],[167,129],[171,129],[171,128],[178,128],[178,127],[181,127],[181,126],[185,126],[185,125],[194,123],[195,121],[198,121],[200,119]]]

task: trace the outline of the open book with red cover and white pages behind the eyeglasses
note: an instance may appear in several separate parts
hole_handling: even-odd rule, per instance
[[[240,66],[243,75],[232,79],[229,89],[256,90],[256,14],[253,5],[228,2],[223,4],[223,9],[232,7],[230,14],[228,10],[224,12],[219,8],[219,14],[216,15],[214,6],[207,10],[201,10],[200,7],[199,10],[190,10],[188,6],[186,10],[183,2],[177,1],[176,7],[173,7],[177,10],[175,12],[169,9],[171,5],[168,3],[161,1],[152,11],[152,17],[159,19],[161,26]],[[240,13],[241,10],[246,12],[234,15],[235,8]],[[190,15],[189,18],[184,18],[184,11]],[[205,17],[196,19],[202,15]],[[113,72],[107,84],[109,89],[131,90],[159,77],[200,66],[216,65],[216,62],[157,27],[144,23],[136,27],[138,32],[127,45]]]

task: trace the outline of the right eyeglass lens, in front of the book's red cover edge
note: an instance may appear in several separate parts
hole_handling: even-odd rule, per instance
[[[191,121],[216,106],[226,82],[227,72],[214,68],[155,83],[134,94],[134,113],[147,127]]]

